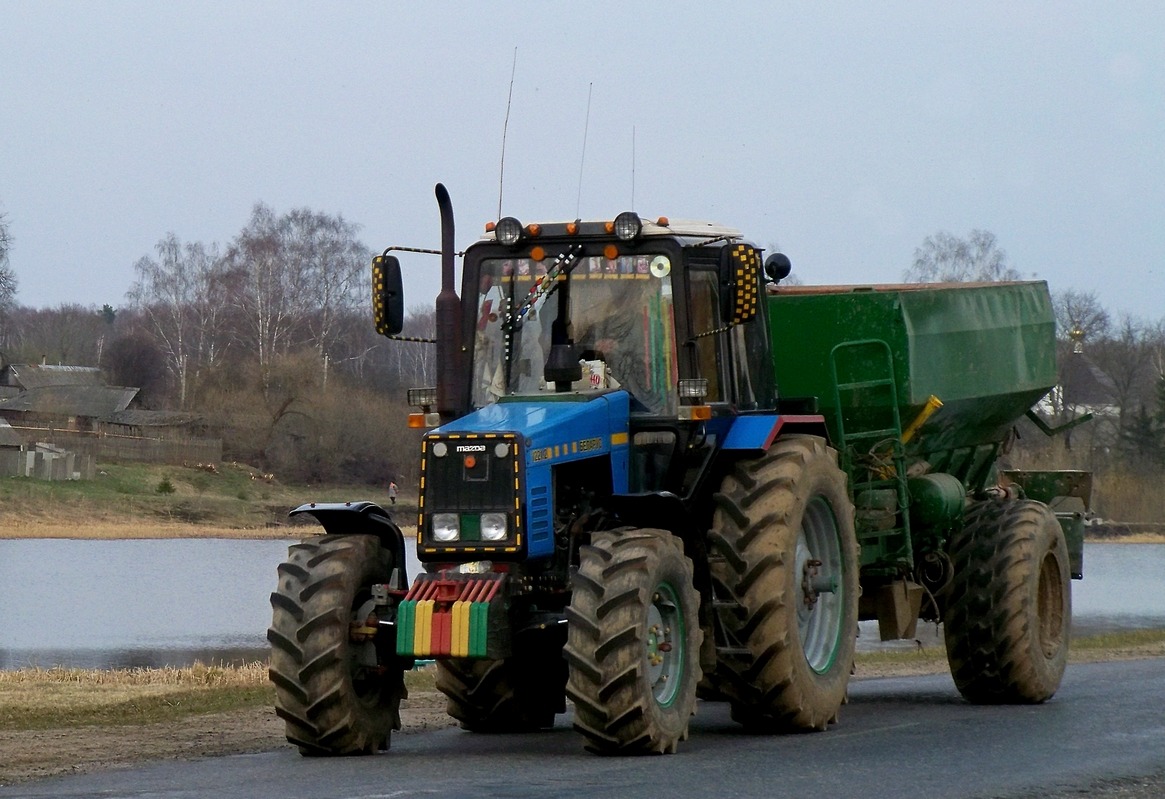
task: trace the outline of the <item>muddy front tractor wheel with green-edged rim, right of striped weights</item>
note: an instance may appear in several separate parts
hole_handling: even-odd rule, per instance
[[[665,530],[595,532],[567,608],[566,694],[600,755],[672,754],[700,680],[692,561]]]

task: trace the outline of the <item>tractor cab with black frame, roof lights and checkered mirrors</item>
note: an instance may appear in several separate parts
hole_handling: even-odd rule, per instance
[[[400,302],[395,257],[374,269],[375,306]],[[457,358],[438,363],[453,388],[429,426],[472,432],[465,417],[495,403],[553,412],[624,391],[628,473],[612,490],[683,496],[733,417],[775,406],[762,297],[761,252],[719,225],[490,222],[464,255]]]

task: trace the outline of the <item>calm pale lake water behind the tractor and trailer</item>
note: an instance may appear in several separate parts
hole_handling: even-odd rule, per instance
[[[0,540],[0,669],[264,659],[289,543]],[[1072,582],[1078,634],[1165,628],[1165,544],[1089,544],[1085,558],[1086,579]],[[876,641],[863,622],[861,648]]]

